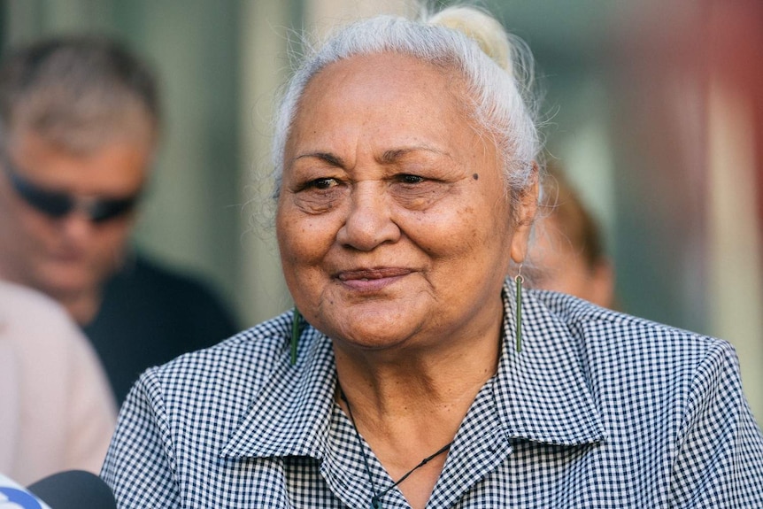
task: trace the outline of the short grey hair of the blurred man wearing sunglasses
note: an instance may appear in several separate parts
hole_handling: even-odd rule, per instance
[[[112,39],[58,36],[12,50],[0,66],[3,145],[26,132],[79,152],[118,136],[155,144],[159,120],[149,66]]]

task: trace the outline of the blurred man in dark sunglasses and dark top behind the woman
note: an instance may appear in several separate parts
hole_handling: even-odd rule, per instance
[[[66,307],[119,403],[146,367],[235,332],[210,289],[129,246],[159,123],[154,77],[112,40],[51,38],[0,67],[0,279]]]

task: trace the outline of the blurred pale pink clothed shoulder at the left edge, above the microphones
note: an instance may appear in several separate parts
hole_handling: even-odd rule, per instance
[[[0,281],[0,472],[22,484],[97,473],[116,419],[103,368],[66,310]]]

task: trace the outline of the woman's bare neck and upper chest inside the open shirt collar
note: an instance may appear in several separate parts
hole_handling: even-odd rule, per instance
[[[459,347],[361,352],[338,347],[337,404],[364,437],[393,481],[450,443],[482,386],[497,369],[499,340]],[[351,408],[348,408],[348,405]],[[398,489],[423,507],[442,472],[446,454],[412,474]]]

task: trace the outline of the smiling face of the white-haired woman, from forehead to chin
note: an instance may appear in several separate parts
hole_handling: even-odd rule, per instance
[[[422,347],[497,330],[527,228],[512,228],[495,147],[461,89],[393,54],[332,64],[305,89],[278,243],[297,308],[335,341]]]

